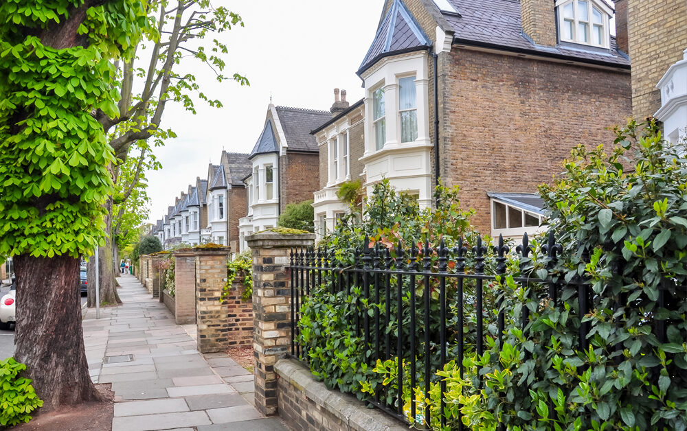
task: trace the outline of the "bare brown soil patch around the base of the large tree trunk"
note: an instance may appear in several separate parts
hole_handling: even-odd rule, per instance
[[[106,431],[112,429],[115,413],[110,384],[96,384],[104,397],[100,403],[85,403],[76,407],[60,408],[44,415],[34,415],[28,423],[11,428],[12,431]],[[39,408],[38,412],[41,411]]]

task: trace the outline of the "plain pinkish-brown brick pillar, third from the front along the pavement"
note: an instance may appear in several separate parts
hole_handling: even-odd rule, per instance
[[[196,255],[174,252],[174,317],[177,325],[196,323]]]

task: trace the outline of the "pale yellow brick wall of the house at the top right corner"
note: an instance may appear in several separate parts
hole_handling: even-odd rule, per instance
[[[627,1],[633,114],[644,119],[661,107],[656,84],[687,48],[687,1]]]

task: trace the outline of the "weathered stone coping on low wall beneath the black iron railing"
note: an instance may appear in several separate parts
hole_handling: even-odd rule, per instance
[[[277,374],[289,380],[293,387],[302,391],[315,404],[322,406],[341,419],[350,430],[357,431],[407,431],[408,426],[379,409],[370,409],[363,401],[349,394],[330,391],[324,383],[317,382],[310,370],[294,359],[280,359],[274,365]]]

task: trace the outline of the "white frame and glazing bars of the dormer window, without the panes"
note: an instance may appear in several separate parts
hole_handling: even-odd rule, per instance
[[[580,1],[587,1],[587,21],[582,21],[579,15],[578,3]],[[572,39],[566,38],[563,28],[565,26],[565,21],[570,21],[570,19],[565,18],[563,14],[563,8],[565,5],[572,4],[573,10],[573,20],[572,20]],[[592,42],[592,34],[594,32],[594,27],[598,24],[594,23],[594,9],[601,12],[601,44],[598,45]],[[594,0],[558,0],[556,1],[556,14],[559,19],[559,38],[563,42],[578,43],[580,45],[587,45],[590,47],[606,48],[609,49],[611,46],[611,32],[610,32],[610,19],[613,12],[598,1]],[[580,23],[587,24],[587,42],[579,37],[579,25]]]

